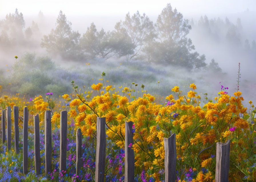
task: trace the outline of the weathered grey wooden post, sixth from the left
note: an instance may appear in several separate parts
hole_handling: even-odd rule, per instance
[[[51,172],[51,111],[45,111],[45,174]]]

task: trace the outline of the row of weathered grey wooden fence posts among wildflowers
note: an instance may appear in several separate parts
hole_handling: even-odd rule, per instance
[[[15,125],[15,152],[19,153],[19,109],[14,106],[14,125]],[[28,109],[23,111],[23,173],[28,171]],[[2,109],[2,143],[5,143],[5,120],[7,116],[7,150],[11,149],[11,107]],[[60,119],[60,171],[66,170],[67,162],[67,111],[61,111]],[[125,182],[134,182],[134,151],[128,147],[133,144],[132,133],[133,122],[125,123]],[[45,111],[45,174],[51,172],[51,111]],[[39,115],[34,116],[34,153],[35,153],[35,172],[40,174],[40,141],[39,141]],[[78,128],[76,132],[76,175],[79,175],[83,167],[82,158],[82,133]],[[164,138],[165,149],[165,182],[175,182],[176,179],[176,140],[175,134],[169,138]],[[217,143],[216,150],[216,182],[228,181],[229,172],[229,153],[230,140],[226,143]],[[105,176],[105,156],[106,156],[106,134],[105,117],[97,117],[97,142],[96,142],[96,162],[95,162],[95,181],[103,182]]]

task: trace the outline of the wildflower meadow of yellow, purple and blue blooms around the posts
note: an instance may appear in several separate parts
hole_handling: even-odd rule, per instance
[[[132,121],[135,153],[135,181],[160,182],[165,180],[164,138],[176,134],[176,181],[215,181],[216,143],[230,140],[229,181],[256,180],[256,109],[251,101],[243,106],[242,93],[228,94],[229,88],[220,86],[213,100],[201,98],[193,83],[183,93],[178,86],[169,88],[165,103],[158,104],[158,95],[144,90],[144,85],[114,88],[104,80],[85,90],[74,81],[73,92],[55,95],[48,92],[28,98],[17,93],[1,93],[0,104],[19,107],[19,154],[6,143],[0,144],[0,181],[95,181],[95,151],[97,117],[106,121],[105,181],[124,181],[125,122]],[[1,87],[2,89],[2,87]],[[161,100],[161,99],[160,99]],[[28,120],[28,173],[23,174],[23,107],[29,110]],[[45,175],[44,119],[51,111],[52,158],[51,172]],[[67,165],[60,170],[60,112],[67,113]],[[1,109],[0,114],[2,115]],[[13,112],[12,112],[13,113]],[[34,120],[39,114],[40,175],[34,165]],[[13,114],[12,114],[13,122]],[[14,131],[14,124],[12,124]],[[83,167],[76,175],[76,130],[82,137]],[[0,134],[1,135],[1,134]],[[12,139],[14,133],[12,133]]]

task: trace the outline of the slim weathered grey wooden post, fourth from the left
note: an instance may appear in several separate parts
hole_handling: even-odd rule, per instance
[[[27,107],[23,108],[23,173],[27,174],[27,163],[28,163],[28,156],[27,156],[27,128],[28,128],[28,120],[29,120],[29,112]]]

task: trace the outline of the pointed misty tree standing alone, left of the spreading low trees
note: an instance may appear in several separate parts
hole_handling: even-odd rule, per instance
[[[43,36],[41,47],[52,55],[61,55],[63,59],[80,59],[80,34],[72,31],[72,23],[67,21],[65,14],[59,12],[57,26],[51,33]]]

